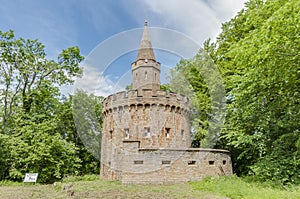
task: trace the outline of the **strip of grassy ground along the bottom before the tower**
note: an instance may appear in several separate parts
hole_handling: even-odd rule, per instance
[[[102,181],[98,175],[68,177],[50,185],[0,182],[0,198],[300,198],[300,186],[279,187],[250,178],[205,178],[201,182],[172,185],[123,185]]]

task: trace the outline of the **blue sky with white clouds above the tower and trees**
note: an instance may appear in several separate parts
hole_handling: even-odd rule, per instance
[[[62,49],[79,46],[85,57],[90,57],[97,63],[101,62],[103,55],[95,55],[95,52],[97,48],[103,48],[103,42],[110,44],[105,47],[104,52],[114,51],[120,48],[120,43],[123,44],[120,34],[134,30],[133,50],[114,57],[109,66],[85,65],[85,74],[91,81],[89,85],[97,84],[97,93],[106,96],[120,89],[114,83],[130,78],[130,64],[136,56],[134,50],[138,47],[145,19],[149,22],[154,47],[166,40],[166,37],[155,38],[155,31],[159,28],[178,31],[184,34],[181,38],[189,38],[201,46],[206,39],[216,38],[221,31],[221,24],[236,15],[243,8],[244,2],[245,0],[0,0],[0,30],[12,29],[17,37],[38,39],[46,46],[46,53],[51,59],[55,59]],[[151,27],[155,27],[152,35]],[[118,42],[112,42],[113,38],[118,38]],[[168,48],[173,45],[171,43],[169,42]],[[188,48],[185,45],[181,47]],[[168,49],[156,50],[155,53],[165,68],[174,66],[181,56]],[[181,53],[184,54],[182,51]],[[190,53],[192,54],[193,52]],[[65,92],[71,89],[68,87]]]

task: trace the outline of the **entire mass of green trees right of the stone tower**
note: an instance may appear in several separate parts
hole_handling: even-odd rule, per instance
[[[300,183],[299,33],[298,0],[250,0],[171,73],[171,90],[193,93],[193,144],[228,149],[238,175]]]

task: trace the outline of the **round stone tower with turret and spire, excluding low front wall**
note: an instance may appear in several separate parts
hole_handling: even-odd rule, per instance
[[[145,22],[137,59],[132,66],[132,90],[104,99],[101,177],[121,179],[125,152],[136,149],[185,149],[191,145],[189,100],[160,90],[156,61]]]

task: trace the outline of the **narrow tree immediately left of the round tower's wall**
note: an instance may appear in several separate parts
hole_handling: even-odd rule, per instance
[[[76,143],[85,163],[83,173],[99,173],[101,157],[103,97],[76,90],[72,97],[72,113],[76,126]],[[80,138],[80,139],[79,139]]]

